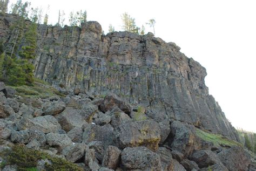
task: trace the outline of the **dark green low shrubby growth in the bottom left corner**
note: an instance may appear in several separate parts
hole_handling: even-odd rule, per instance
[[[17,165],[18,170],[37,170],[37,162],[48,159],[52,165],[45,165],[46,170],[83,170],[77,165],[60,158],[52,158],[50,155],[26,148],[24,145],[15,145],[12,150],[6,150],[1,154],[6,160],[6,165]]]

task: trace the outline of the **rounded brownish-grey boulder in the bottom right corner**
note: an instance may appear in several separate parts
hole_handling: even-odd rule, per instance
[[[218,153],[220,161],[228,170],[248,170],[250,155],[242,148],[233,146]]]

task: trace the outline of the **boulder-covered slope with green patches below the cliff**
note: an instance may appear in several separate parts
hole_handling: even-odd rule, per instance
[[[30,88],[35,87],[26,90]],[[37,94],[31,98],[28,97],[31,93],[26,92],[29,91],[24,91],[22,97],[0,82],[3,169],[252,170],[255,167],[250,154],[238,142],[186,122],[156,115],[152,119],[148,108],[133,106],[116,94],[79,93],[59,97],[48,92],[53,96]]]

